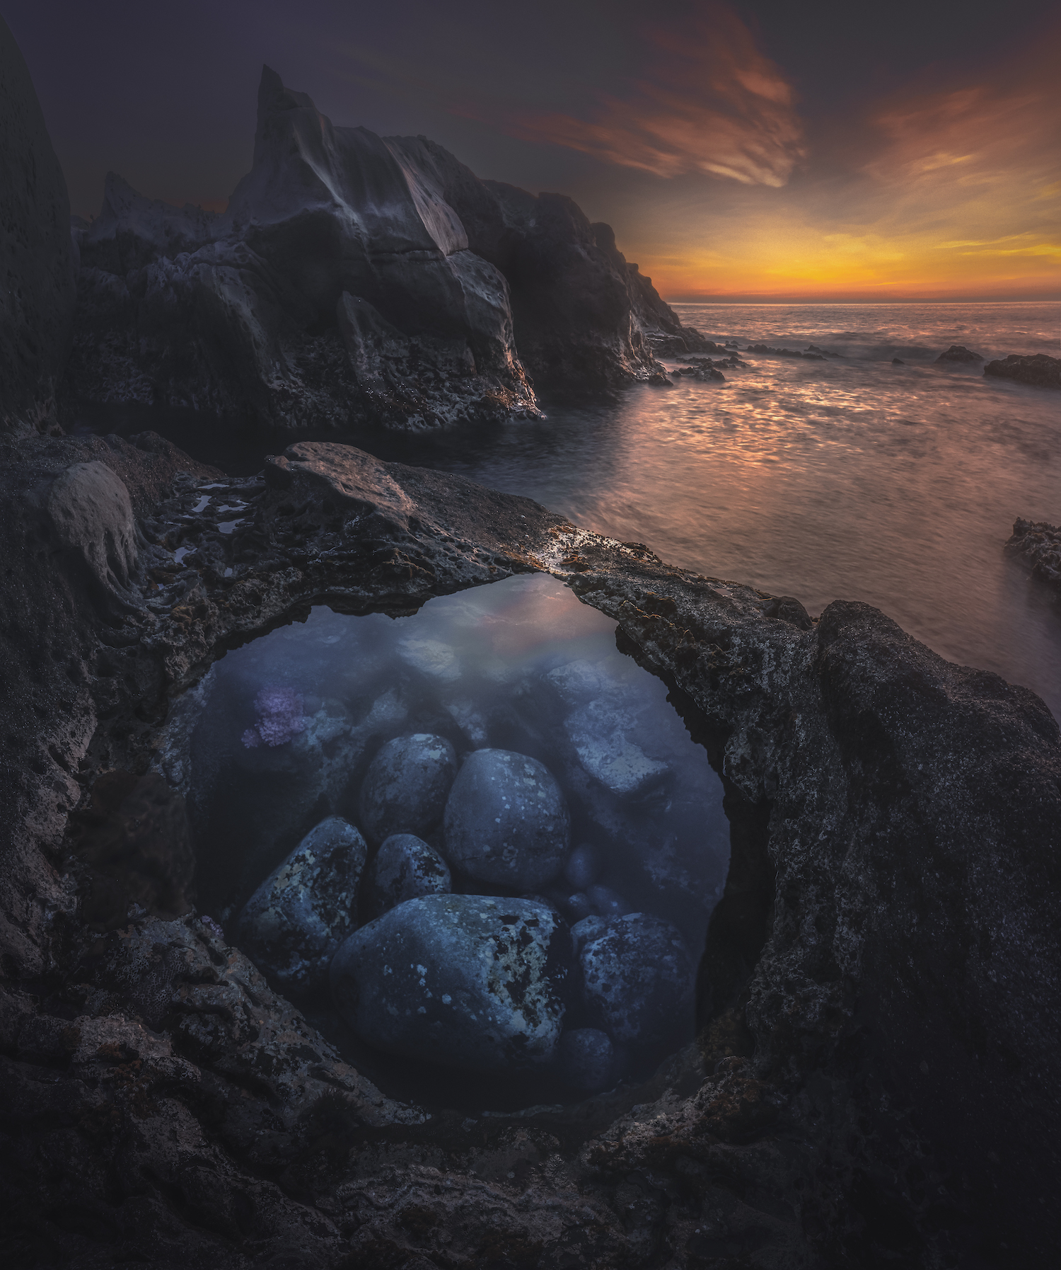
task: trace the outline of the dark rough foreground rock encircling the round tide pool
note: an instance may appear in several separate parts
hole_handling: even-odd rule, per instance
[[[866,605],[812,622],[344,447],[230,483],[246,507],[221,533],[189,512],[218,478],[155,444],[0,448],[10,1264],[1052,1266],[1061,737],[1034,695]],[[127,583],[47,513],[94,461],[136,517]],[[565,1110],[401,1106],[209,923],[159,911],[179,867],[145,886],[143,853],[112,846],[112,909],[136,861],[127,914],[89,926],[72,813],[104,771],[178,779],[225,648],[312,603],[407,613],[536,569],[616,620],[722,772],[734,855],[694,1049]],[[156,861],[178,817],[159,824]]]

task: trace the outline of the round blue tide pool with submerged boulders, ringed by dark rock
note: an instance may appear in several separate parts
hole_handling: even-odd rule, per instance
[[[199,912],[391,1095],[570,1102],[692,1038],[722,787],[614,636],[536,575],[216,667]]]

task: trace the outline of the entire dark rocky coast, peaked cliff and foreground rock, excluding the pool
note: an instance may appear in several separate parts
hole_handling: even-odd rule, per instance
[[[811,617],[350,446],[232,478],[152,432],[63,432],[74,392],[435,427],[734,345],[569,199],[333,128],[272,72],[232,218],[114,179],[75,276],[3,23],[0,62],[5,1264],[1052,1265],[1061,734],[1034,693],[866,605]],[[289,201],[289,161],[346,193]],[[395,196],[371,234],[358,173]],[[1041,572],[1056,532],[1018,522]],[[641,1085],[478,1115],[383,1093],[197,912],[190,738],[211,667],[311,606],[405,616],[533,573],[668,687],[732,855],[695,1041]]]

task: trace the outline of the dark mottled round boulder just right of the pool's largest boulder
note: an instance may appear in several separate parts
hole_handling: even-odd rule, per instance
[[[613,1040],[646,1044],[692,1010],[693,960],[678,928],[660,917],[609,921],[579,960],[586,1006]]]

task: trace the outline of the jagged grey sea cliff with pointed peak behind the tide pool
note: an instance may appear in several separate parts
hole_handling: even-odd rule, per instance
[[[423,137],[335,127],[268,67],[223,215],[110,173],[75,235],[74,391],[244,427],[534,415],[530,380],[646,378],[649,337],[684,330],[571,199],[481,182]]]

